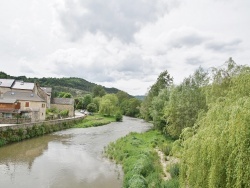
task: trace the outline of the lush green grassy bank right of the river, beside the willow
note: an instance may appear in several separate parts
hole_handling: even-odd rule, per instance
[[[120,163],[124,171],[123,187],[179,187],[178,167],[165,167],[172,179],[164,180],[164,169],[156,148],[169,154],[173,140],[164,137],[160,132],[150,130],[145,133],[130,133],[112,142],[105,148],[106,155]],[[175,168],[175,169],[174,169]]]

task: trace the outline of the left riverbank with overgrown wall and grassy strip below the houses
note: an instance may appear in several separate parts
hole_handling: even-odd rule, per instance
[[[89,116],[78,115],[74,118],[36,123],[3,125],[0,127],[0,147],[63,129],[97,127],[115,121],[115,117],[105,117],[99,114],[94,114]]]

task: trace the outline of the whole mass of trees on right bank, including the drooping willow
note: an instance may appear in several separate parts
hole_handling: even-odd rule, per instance
[[[162,72],[141,116],[180,149],[180,187],[250,187],[250,67],[229,58],[174,85]]]

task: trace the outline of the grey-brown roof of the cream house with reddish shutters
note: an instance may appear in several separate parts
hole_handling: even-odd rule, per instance
[[[16,99],[21,101],[44,102],[42,98],[33,92],[7,91],[3,94],[3,99]]]

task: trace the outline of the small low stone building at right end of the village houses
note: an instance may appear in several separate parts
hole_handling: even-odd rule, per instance
[[[58,110],[68,110],[69,117],[74,116],[74,102],[72,98],[53,98],[51,101],[51,108]]]

